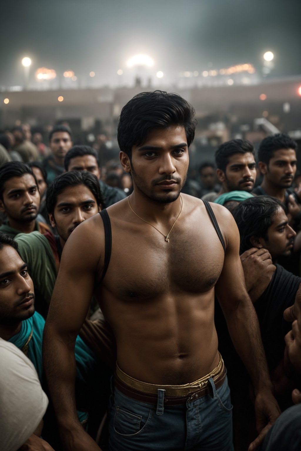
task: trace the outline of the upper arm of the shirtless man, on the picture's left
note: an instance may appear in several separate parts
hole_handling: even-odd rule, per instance
[[[64,246],[53,290],[48,322],[57,331],[78,333],[91,302],[100,250],[84,225],[78,226]]]

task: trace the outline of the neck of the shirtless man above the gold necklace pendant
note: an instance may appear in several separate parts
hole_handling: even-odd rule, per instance
[[[182,205],[180,196],[173,202],[162,203],[145,197],[142,193],[139,193],[138,189],[135,189],[130,195],[129,201],[137,215],[154,225],[156,223],[166,224],[167,221],[175,220]]]

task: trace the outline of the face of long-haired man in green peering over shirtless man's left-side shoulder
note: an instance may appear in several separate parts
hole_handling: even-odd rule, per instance
[[[54,215],[49,214],[52,227],[67,241],[75,227],[99,212],[100,208],[85,185],[68,186],[57,196]]]

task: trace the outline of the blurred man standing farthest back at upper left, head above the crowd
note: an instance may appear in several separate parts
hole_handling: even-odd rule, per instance
[[[49,148],[51,155],[44,161],[47,172],[47,182],[51,183],[64,172],[64,158],[70,147],[73,146],[71,131],[65,125],[56,125],[49,133]]]

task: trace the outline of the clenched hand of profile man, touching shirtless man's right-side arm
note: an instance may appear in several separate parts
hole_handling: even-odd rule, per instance
[[[269,285],[276,270],[267,249],[251,248],[241,254],[245,286],[252,302],[255,302]]]

